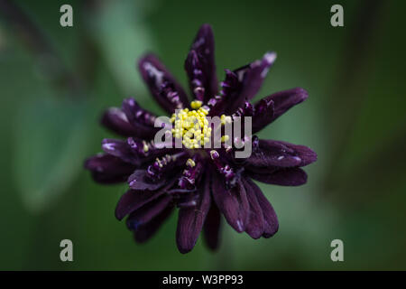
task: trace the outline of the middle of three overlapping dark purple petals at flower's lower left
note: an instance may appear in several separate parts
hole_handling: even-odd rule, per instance
[[[163,195],[157,200],[146,203],[138,210],[134,210],[126,219],[127,228],[136,229],[158,216],[171,203],[171,196]]]

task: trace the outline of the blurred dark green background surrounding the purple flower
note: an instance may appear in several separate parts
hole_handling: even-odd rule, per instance
[[[403,1],[0,1],[0,269],[406,269],[406,82]],[[74,26],[60,26],[60,6]],[[344,6],[345,27],[330,25]],[[134,243],[114,217],[125,185],[83,170],[100,151],[106,107],[152,101],[135,61],[154,51],[183,84],[202,23],[216,37],[217,75],[277,51],[257,98],[302,87],[309,99],[259,135],[309,145],[301,187],[260,185],[280,230],[253,240],[223,226],[216,253],[199,239],[181,255],[177,216]],[[225,225],[223,223],[223,225]],[[60,240],[74,261],[60,261]],[[345,261],[330,260],[331,240]]]

